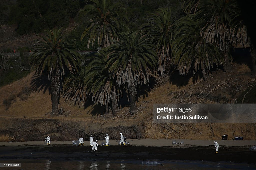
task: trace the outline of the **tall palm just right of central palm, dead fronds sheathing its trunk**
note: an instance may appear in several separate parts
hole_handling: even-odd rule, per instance
[[[171,8],[158,9],[156,14],[147,18],[141,30],[143,34],[156,45],[158,56],[158,72],[160,75],[170,72],[171,41],[173,35],[174,17]]]

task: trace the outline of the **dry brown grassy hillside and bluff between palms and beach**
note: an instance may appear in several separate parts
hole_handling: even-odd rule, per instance
[[[141,90],[137,105],[139,111],[129,114],[129,107],[116,115],[102,115],[103,108],[95,104],[74,106],[73,102],[60,98],[60,108],[66,115],[50,116],[49,91],[31,87],[34,75],[0,88],[0,141],[42,140],[51,135],[53,140],[72,140],[79,136],[89,138],[91,133],[98,139],[110,134],[119,138],[122,131],[128,138],[184,138],[220,139],[234,134],[244,139],[256,139],[255,124],[156,124],[153,123],[154,103],[235,103],[241,94],[254,86],[256,77],[246,65],[234,64],[230,72],[213,72],[207,81],[199,77],[183,77],[178,74],[156,78],[151,89]],[[242,96],[246,98],[246,96]]]

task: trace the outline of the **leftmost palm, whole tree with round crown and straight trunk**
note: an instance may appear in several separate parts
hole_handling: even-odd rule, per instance
[[[60,96],[60,80],[65,71],[76,73],[78,70],[80,55],[74,51],[75,40],[68,41],[66,34],[61,29],[45,31],[45,36],[38,35],[38,40],[32,53],[31,65],[36,73],[42,75],[47,71],[51,80],[52,114],[59,113],[58,104]]]

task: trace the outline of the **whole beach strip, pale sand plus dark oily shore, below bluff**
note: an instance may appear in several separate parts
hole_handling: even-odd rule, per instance
[[[110,140],[109,146],[99,146],[91,151],[89,141],[84,146],[73,145],[71,141],[0,142],[0,159],[48,159],[52,160],[194,160],[231,161],[256,164],[256,151],[249,148],[255,140],[219,141],[219,153],[215,154],[213,140],[183,140],[183,144],[172,145],[173,139],[127,139],[130,145],[119,145],[118,140]],[[176,139],[177,141],[177,139]],[[49,156],[50,155],[50,156]]]

